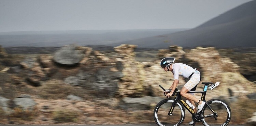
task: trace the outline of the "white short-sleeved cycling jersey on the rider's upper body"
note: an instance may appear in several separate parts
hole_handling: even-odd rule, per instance
[[[193,67],[183,64],[183,63],[174,63],[172,64],[172,73],[174,75],[174,80],[179,80],[179,76],[183,76],[184,78],[188,78],[193,72],[200,72]]]

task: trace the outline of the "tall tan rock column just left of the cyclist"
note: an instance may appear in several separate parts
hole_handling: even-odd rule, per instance
[[[122,44],[115,47],[115,51],[122,58],[117,58],[117,62],[122,63],[122,81],[118,83],[118,94],[120,96],[141,97],[144,94],[144,69],[140,62],[135,61],[136,53],[134,49],[136,45]]]

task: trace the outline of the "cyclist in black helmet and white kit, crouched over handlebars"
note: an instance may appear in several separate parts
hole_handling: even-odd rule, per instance
[[[170,93],[166,94],[166,97],[172,96],[176,86],[179,83],[179,76],[183,76],[184,78],[189,78],[189,81],[186,82],[186,84],[181,89],[181,96],[185,97],[187,100],[190,101],[194,106],[196,106],[195,102],[198,104],[198,110],[195,108],[192,108],[194,112],[199,113],[203,106],[205,105],[204,101],[200,101],[197,99],[194,95],[194,93],[187,93],[188,91],[196,91],[197,84],[200,82],[200,72],[194,69],[191,66],[188,66],[183,63],[173,63],[175,58],[172,57],[166,57],[163,58],[160,62],[161,67],[166,71],[171,71],[174,75],[174,81],[169,89],[172,89]],[[164,92],[166,93],[166,92]],[[193,124],[194,121],[188,123]]]

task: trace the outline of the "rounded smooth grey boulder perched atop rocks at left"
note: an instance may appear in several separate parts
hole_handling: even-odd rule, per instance
[[[82,53],[75,45],[64,46],[54,53],[54,61],[63,65],[76,65],[83,59]]]

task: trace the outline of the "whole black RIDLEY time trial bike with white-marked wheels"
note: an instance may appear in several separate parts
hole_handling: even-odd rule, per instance
[[[213,83],[202,82],[202,84],[204,84],[203,91],[189,91],[188,93],[201,93],[201,100],[205,101],[207,88]],[[163,91],[171,92],[171,90],[166,90],[161,85],[159,86]],[[163,94],[165,95],[165,93]],[[221,99],[205,101],[203,109],[199,113],[196,113],[182,99],[180,91],[177,88],[172,96],[174,96],[174,98],[161,100],[154,109],[154,120],[158,126],[180,126],[185,120],[185,109],[192,115],[194,121],[193,126],[195,126],[197,122],[202,122],[204,126],[226,126],[230,122],[231,109],[228,104]]]

